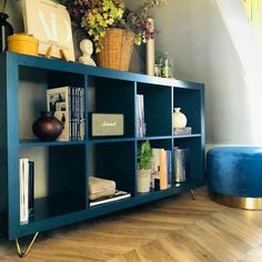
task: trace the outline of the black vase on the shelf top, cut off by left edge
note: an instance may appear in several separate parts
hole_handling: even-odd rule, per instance
[[[13,34],[12,26],[7,21],[9,16],[0,12],[0,52],[8,50],[8,37]]]

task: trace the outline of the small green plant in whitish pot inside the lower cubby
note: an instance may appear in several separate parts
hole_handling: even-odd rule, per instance
[[[152,157],[150,142],[144,141],[138,152],[138,192],[140,193],[150,191]]]

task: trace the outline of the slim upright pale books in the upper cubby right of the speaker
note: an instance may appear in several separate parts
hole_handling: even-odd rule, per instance
[[[137,135],[138,138],[145,137],[143,94],[137,94]]]

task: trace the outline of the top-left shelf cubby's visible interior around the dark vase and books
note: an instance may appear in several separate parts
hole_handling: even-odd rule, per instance
[[[20,141],[37,140],[33,122],[47,110],[47,90],[59,87],[84,87],[84,75],[20,66],[18,70]]]

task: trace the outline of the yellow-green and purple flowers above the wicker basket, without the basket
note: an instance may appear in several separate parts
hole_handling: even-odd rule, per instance
[[[148,20],[152,8],[165,0],[145,0],[135,11],[125,8],[123,0],[53,0],[67,7],[71,19],[92,39],[95,52],[102,50],[108,28],[125,29],[134,33],[134,44],[153,39],[153,24]]]

